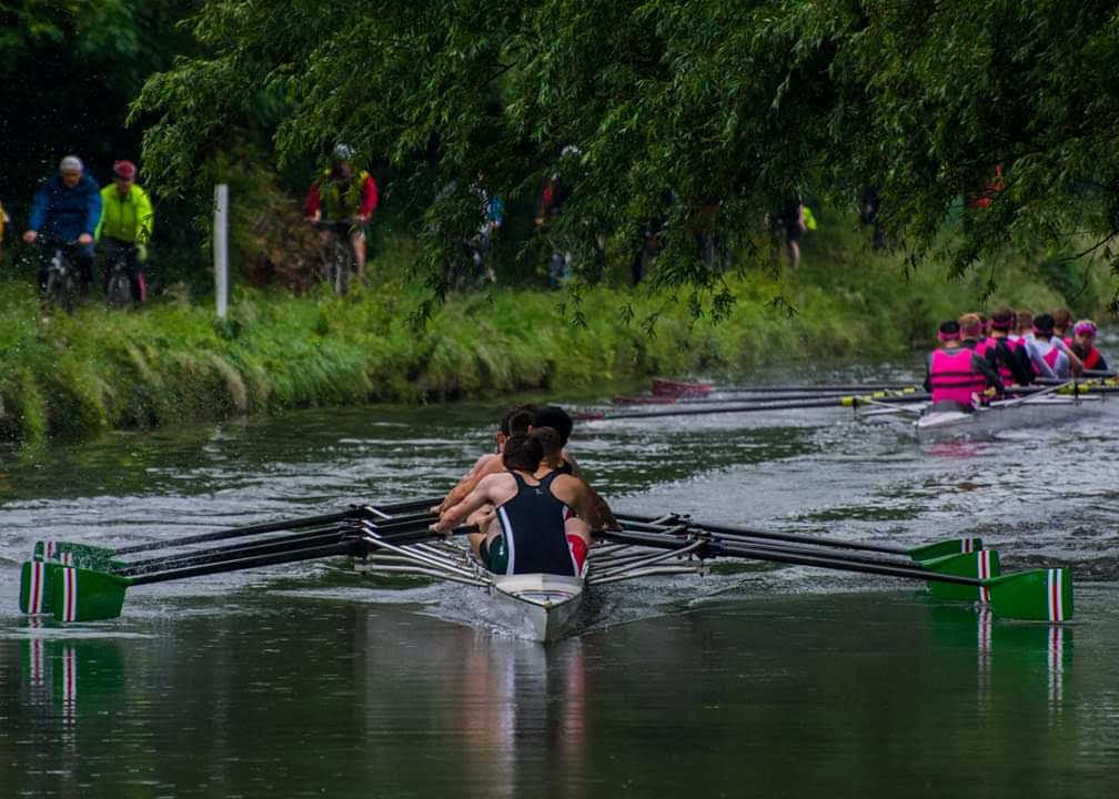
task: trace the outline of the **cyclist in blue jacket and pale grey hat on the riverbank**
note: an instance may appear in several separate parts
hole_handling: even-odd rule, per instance
[[[101,220],[101,191],[97,181],[85,175],[77,156],[67,156],[31,200],[31,218],[23,241],[35,244],[40,236],[77,242],[72,257],[83,284],[93,283],[93,234]],[[47,289],[50,253],[43,250],[39,261],[39,292]]]

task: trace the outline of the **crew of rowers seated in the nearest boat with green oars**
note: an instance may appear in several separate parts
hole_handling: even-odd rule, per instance
[[[471,548],[495,574],[582,576],[593,534],[618,523],[565,450],[572,426],[554,405],[506,414],[497,452],[479,458],[432,508],[440,515],[432,532],[478,526]]]

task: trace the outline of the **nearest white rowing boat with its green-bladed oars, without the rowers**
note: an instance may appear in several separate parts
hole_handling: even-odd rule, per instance
[[[464,545],[462,534],[477,528],[458,528],[448,538],[431,532],[436,517],[422,509],[435,501],[352,506],[337,514],[117,548],[40,543],[21,568],[19,605],[26,613],[51,613],[62,622],[113,619],[121,614],[125,591],[134,585],[350,557],[364,572],[419,575],[480,589],[483,601],[479,618],[471,618],[471,623],[481,621],[549,643],[575,633],[592,615],[584,609],[596,586],[656,575],[702,574],[713,558],[728,558],[915,580],[925,583],[933,599],[989,603],[993,612],[1014,619],[1063,622],[1072,615],[1068,570],[1000,574],[998,554],[984,549],[975,538],[906,549],[703,524],[675,514],[617,514],[620,527],[601,533],[582,575],[493,574]],[[223,543],[215,545],[218,542]],[[129,557],[154,549],[166,553]],[[474,610],[476,603],[463,607]]]

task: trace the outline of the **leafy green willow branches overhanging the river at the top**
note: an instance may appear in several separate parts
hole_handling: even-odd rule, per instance
[[[1010,245],[1103,252],[1119,231],[1115,3],[209,0],[194,31],[206,55],[137,104],[158,119],[149,170],[188,184],[280,98],[282,161],[346,141],[433,198],[417,229],[435,275],[477,224],[482,175],[506,196],[558,175],[556,232],[584,251],[666,220],[658,280],[716,307],[696,231],[749,245],[803,191],[847,205],[877,187],[897,239],[915,257],[947,241],[959,270]],[[962,204],[996,167],[987,207]]]

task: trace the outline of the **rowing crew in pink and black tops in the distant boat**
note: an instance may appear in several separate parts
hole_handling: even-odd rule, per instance
[[[1037,378],[1066,380],[1085,369],[1107,370],[1094,344],[1096,323],[1082,319],[1073,333],[1072,338],[1059,335],[1056,320],[1049,313],[1034,318],[1008,308],[996,311],[987,323],[977,313],[942,323],[940,348],[925,363],[924,388],[932,407],[972,411],[978,397],[1002,396],[1008,385],[1026,386]]]

